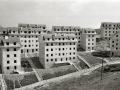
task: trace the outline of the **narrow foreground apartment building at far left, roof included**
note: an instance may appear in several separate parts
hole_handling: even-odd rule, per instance
[[[20,39],[5,37],[0,39],[0,65],[2,73],[10,74],[21,70]]]

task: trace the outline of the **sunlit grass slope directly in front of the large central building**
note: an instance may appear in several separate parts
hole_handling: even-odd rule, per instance
[[[37,70],[42,75],[43,80],[63,76],[72,72],[76,72],[77,69],[72,65],[59,66],[56,68],[39,69]]]

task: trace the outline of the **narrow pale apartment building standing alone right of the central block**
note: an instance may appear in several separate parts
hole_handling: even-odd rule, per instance
[[[82,48],[86,51],[94,50],[96,46],[96,32],[91,28],[83,28],[81,34]]]

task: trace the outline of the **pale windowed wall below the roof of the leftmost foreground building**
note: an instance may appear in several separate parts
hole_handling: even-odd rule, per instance
[[[9,51],[6,51],[6,49],[9,49]],[[16,48],[17,51],[14,51],[13,49],[14,48],[2,48],[2,52],[3,52],[2,60],[4,61],[2,65],[3,65],[3,72],[5,74],[9,74],[13,70],[17,70],[17,71],[21,70],[20,48]],[[14,54],[16,54],[16,57],[14,56]],[[7,55],[9,55],[9,57],[7,57]],[[16,60],[16,63],[14,62],[14,60]],[[16,66],[17,69],[14,69],[14,66]],[[9,69],[7,69],[7,67],[9,67]]]

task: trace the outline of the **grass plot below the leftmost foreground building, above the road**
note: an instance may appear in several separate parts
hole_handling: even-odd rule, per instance
[[[38,80],[34,73],[30,73],[26,75],[5,75],[5,82],[8,90],[12,90],[14,88],[36,83]]]

